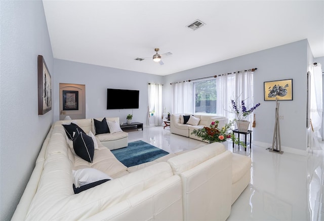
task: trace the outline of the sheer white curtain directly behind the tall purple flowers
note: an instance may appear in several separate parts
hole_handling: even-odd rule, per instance
[[[218,76],[217,81],[217,115],[225,116],[229,120],[235,118],[230,113],[231,100],[237,97],[245,101],[248,108],[254,105],[253,102],[253,72],[251,70],[242,70],[231,75]],[[252,125],[252,116],[246,119]],[[251,128],[250,128],[251,129]]]

